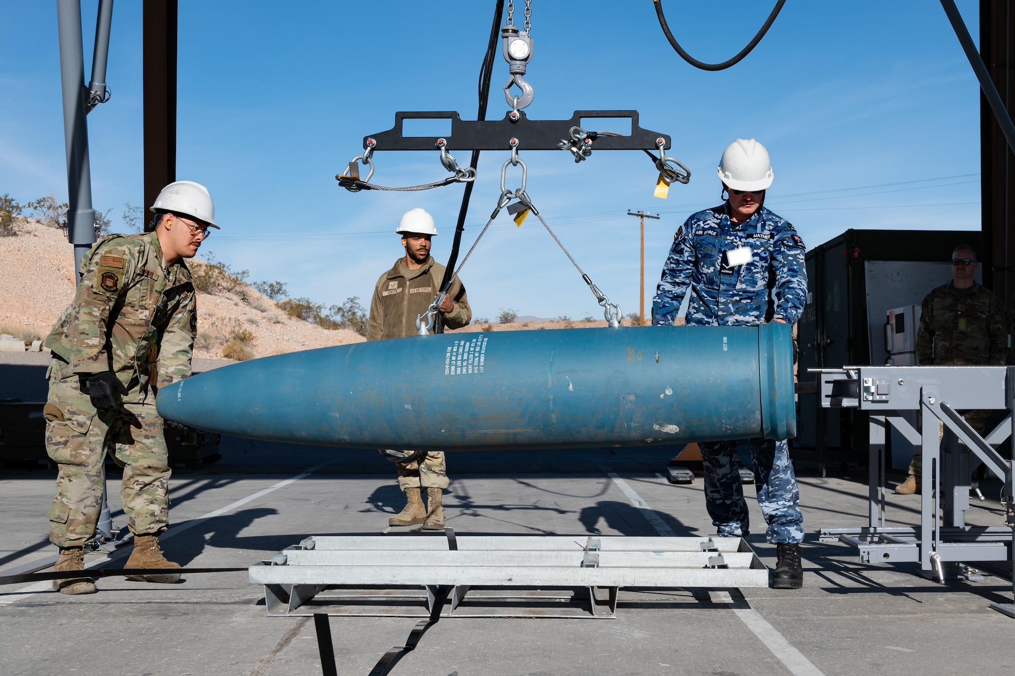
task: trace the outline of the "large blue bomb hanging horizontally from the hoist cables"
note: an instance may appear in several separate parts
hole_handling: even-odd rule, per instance
[[[457,333],[280,354],[162,388],[163,418],[266,441],[476,451],[796,435],[791,327]]]

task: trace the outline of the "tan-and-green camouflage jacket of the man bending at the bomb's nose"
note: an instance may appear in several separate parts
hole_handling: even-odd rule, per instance
[[[46,347],[79,376],[113,371],[130,391],[124,403],[191,375],[197,298],[181,259],[166,266],[158,236],[111,234],[81,261],[74,300]]]

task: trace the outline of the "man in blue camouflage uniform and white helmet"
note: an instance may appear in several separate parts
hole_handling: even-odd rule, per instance
[[[804,243],[785,218],[762,206],[771,185],[768,152],[737,139],[719,167],[729,199],[691,215],[677,230],[652,303],[655,326],[796,324],[807,296]],[[686,315],[686,318],[685,318]],[[757,498],[775,543],[775,589],[803,586],[800,491],[785,441],[749,440]],[[705,503],[723,537],[746,536],[747,502],[737,470],[737,442],[703,442]]]

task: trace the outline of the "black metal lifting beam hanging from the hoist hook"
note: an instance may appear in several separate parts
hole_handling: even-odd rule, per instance
[[[511,114],[503,120],[462,120],[455,111],[399,111],[393,128],[363,137],[363,148],[369,147],[367,139],[374,139],[376,150],[433,150],[437,139],[444,138],[452,150],[507,150],[511,139],[518,138],[526,150],[559,150],[560,141],[571,137],[570,129],[580,127],[583,118],[630,118],[629,136],[599,136],[593,141],[596,150],[657,150],[660,138],[665,148],[670,147],[669,136],[638,126],[637,111],[576,111],[570,120],[530,120],[519,111],[517,122],[512,122]],[[403,136],[403,120],[451,120],[451,134]]]

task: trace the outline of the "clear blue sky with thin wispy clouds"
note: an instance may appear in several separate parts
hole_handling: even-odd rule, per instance
[[[0,0],[0,194],[66,199],[55,2]],[[974,40],[977,3],[959,9]],[[523,5],[518,3],[519,7]],[[93,202],[142,200],[141,9],[114,10],[110,103],[88,116]],[[178,178],[208,186],[223,226],[206,249],[252,278],[327,302],[359,296],[401,255],[394,228],[422,206],[446,260],[462,186],[425,193],[348,193],[334,180],[362,137],[395,111],[457,110],[475,119],[476,80],[493,2],[180,2]],[[725,60],[754,33],[768,3],[668,0],[669,23],[695,57]],[[86,73],[96,2],[82,3]],[[521,11],[518,12],[518,15]],[[734,138],[768,148],[766,205],[809,247],[847,228],[979,227],[976,80],[936,2],[791,0],[743,62],[722,72],[685,64],[650,0],[534,0],[532,119],[634,109],[673,136],[693,175],[667,200],[640,152],[524,153],[528,192],[579,264],[624,312],[637,311],[637,219],[646,227],[646,296],[673,232],[719,203],[716,165]],[[507,68],[494,65],[488,119],[506,111]],[[467,152],[456,153],[463,163]],[[486,222],[504,152],[484,152],[465,246]],[[447,175],[436,153],[379,152],[375,182],[417,185]],[[115,227],[116,229],[116,227]],[[69,246],[69,245],[68,245]],[[534,218],[500,216],[462,273],[474,316],[601,316],[566,257]]]

